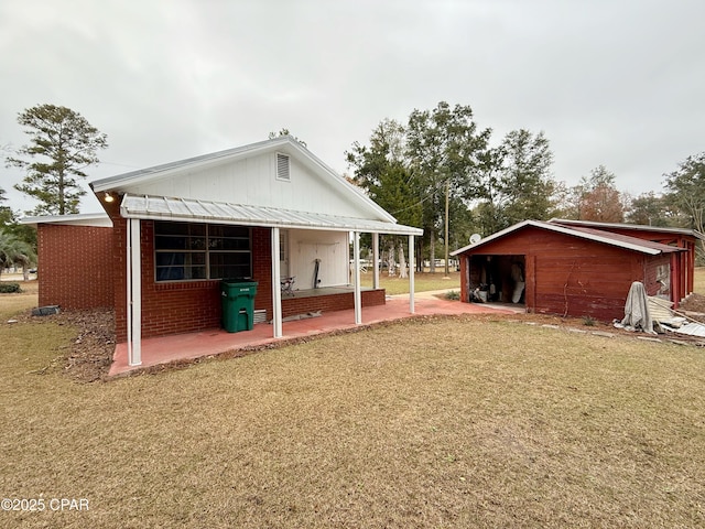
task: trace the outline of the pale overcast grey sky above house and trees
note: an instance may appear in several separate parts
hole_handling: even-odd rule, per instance
[[[605,165],[658,193],[705,151],[703,20],[702,0],[0,0],[0,147],[52,104],[108,134],[87,182],[282,128],[350,173],[381,120],[447,101],[492,144],[543,131],[556,181]],[[0,174],[6,205],[34,207]]]

